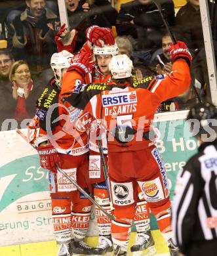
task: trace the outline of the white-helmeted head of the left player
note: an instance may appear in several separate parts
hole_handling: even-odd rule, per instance
[[[58,85],[61,85],[63,71],[71,65],[71,58],[73,58],[73,56],[73,54],[65,50],[60,53],[52,54],[50,58],[50,66],[54,72]]]

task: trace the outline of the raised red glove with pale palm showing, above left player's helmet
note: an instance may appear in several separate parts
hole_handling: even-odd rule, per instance
[[[64,23],[54,37],[58,53],[63,50],[73,53],[75,49],[76,35],[77,31],[71,30],[71,32],[68,32],[68,30],[66,30],[66,24]]]

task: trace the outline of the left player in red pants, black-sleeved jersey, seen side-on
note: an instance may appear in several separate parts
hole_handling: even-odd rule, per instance
[[[60,107],[53,108],[51,112],[49,110],[54,106],[52,104],[59,102],[62,75],[69,68],[71,58],[73,55],[68,51],[52,55],[50,65],[54,71],[54,78],[39,97],[37,113],[29,125],[29,129],[33,133],[30,135],[30,139],[37,146],[41,166],[51,171],[51,173],[49,172],[50,196],[54,236],[59,244],[58,256],[69,256],[71,253],[92,255],[92,249],[94,249],[83,242],[89,228],[92,203],[56,170],[56,165],[58,165],[83,188],[87,186],[83,182],[83,173],[87,173],[89,167],[89,148],[88,136],[82,119],[87,121],[85,117],[88,116],[80,114],[80,111],[73,112],[71,109],[70,114],[76,114],[78,117],[75,129],[79,129],[77,133],[81,135],[80,141],[75,140],[73,134],[70,131],[67,132],[66,128],[64,129],[65,120],[53,123],[47,118],[49,113],[51,120],[63,113]],[[55,139],[55,135],[60,132],[64,133],[64,138]],[[55,148],[50,142],[54,144]],[[72,241],[71,238],[73,238]]]

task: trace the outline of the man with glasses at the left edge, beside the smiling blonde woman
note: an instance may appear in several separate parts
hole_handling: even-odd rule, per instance
[[[8,49],[0,50],[0,131],[1,124],[7,118],[12,118],[15,100],[12,99],[12,88],[9,80],[10,68],[14,58]]]

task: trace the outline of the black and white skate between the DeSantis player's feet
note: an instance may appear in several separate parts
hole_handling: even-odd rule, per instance
[[[136,234],[136,244],[130,247],[130,251],[133,255],[141,255],[142,251],[148,249],[145,255],[155,255],[155,242],[151,236],[151,231],[140,232]],[[138,253],[137,253],[138,252]]]

